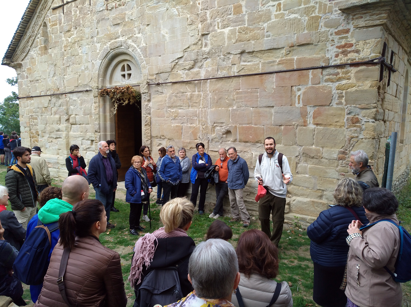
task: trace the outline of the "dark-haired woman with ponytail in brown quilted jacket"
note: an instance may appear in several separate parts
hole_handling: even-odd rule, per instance
[[[99,241],[99,235],[106,231],[106,225],[106,211],[103,204],[96,199],[78,202],[73,211],[60,215],[60,240],[51,255],[43,289],[35,306],[67,306],[57,284],[65,248],[71,248],[63,276],[70,305],[127,305],[120,255]]]

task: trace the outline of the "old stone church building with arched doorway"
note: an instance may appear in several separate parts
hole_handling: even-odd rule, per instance
[[[42,147],[54,177],[67,176],[71,144],[88,162],[107,139],[120,177],[141,144],[157,160],[159,147],[191,156],[199,141],[213,161],[235,146],[252,174],[273,136],[293,173],[286,217],[304,221],[352,176],[352,150],[381,183],[392,131],[396,184],[408,178],[410,25],[409,0],[30,0],[2,64],[17,72],[23,145]],[[133,85],[141,105],[112,116],[99,89],[115,85]],[[250,179],[254,213],[255,195]]]

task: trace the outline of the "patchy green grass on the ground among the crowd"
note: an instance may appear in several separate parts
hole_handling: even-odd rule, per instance
[[[5,167],[0,167],[0,184],[4,185]],[[56,182],[56,185],[61,185],[61,182]],[[90,198],[94,198],[95,195],[90,190]],[[120,197],[122,193],[118,192]],[[411,232],[411,181],[406,187],[397,195],[400,206],[397,212],[399,220],[402,225]],[[107,247],[117,251],[121,257],[122,272],[125,281],[125,289],[128,297],[128,305],[133,306],[135,299],[134,291],[130,288],[128,282],[128,275],[131,267],[131,259],[133,255],[133,247],[139,236],[133,236],[129,234],[129,204],[124,200],[116,199],[115,207],[120,210],[119,213],[111,212],[111,222],[116,225],[114,229],[108,230],[106,233],[100,235],[100,241]],[[148,222],[141,222],[141,226],[146,227],[146,230],[152,232],[162,224],[159,222],[159,213],[161,206],[157,206],[152,203],[151,209],[151,229]],[[197,212],[197,211],[195,211]],[[193,223],[188,230],[188,235],[191,236],[196,243],[204,240],[205,233],[210,226],[213,219],[208,218],[210,212],[205,212],[204,215],[196,213],[193,218]],[[229,217],[220,218],[233,230],[233,238],[230,243],[236,247],[240,234],[246,229],[238,222],[230,223]],[[258,219],[252,219],[249,228],[261,229]],[[144,235],[145,232],[141,232]],[[303,306],[319,306],[312,300],[312,288],[313,288],[313,264],[309,254],[310,240],[307,237],[307,232],[300,228],[297,224],[284,225],[284,231],[281,241],[279,243],[279,275],[277,281],[286,280],[289,282],[291,291],[293,293],[294,307]],[[403,285],[404,300],[403,306],[409,307],[411,305],[411,283],[405,283]],[[28,286],[24,286],[25,292],[23,298],[30,300],[30,292]],[[409,305],[408,305],[409,304]]]

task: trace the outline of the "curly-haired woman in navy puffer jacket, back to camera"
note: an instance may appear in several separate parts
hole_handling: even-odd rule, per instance
[[[324,307],[344,307],[347,298],[340,290],[349,246],[348,225],[352,220],[368,223],[361,206],[363,189],[352,178],[340,179],[334,191],[335,206],[320,213],[309,225],[310,254],[314,262],[313,300]]]

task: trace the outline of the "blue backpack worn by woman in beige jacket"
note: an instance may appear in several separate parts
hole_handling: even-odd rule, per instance
[[[396,282],[408,282],[411,280],[411,236],[405,230],[404,227],[398,226],[395,224],[394,221],[389,219],[383,219],[376,221],[370,225],[361,227],[360,230],[374,226],[376,223],[379,222],[390,222],[391,224],[395,225],[399,229],[399,238],[400,238],[400,245],[399,245],[399,252],[397,256],[397,261],[395,261],[395,272],[391,272],[386,266],[384,268],[390,275],[394,278]]]

